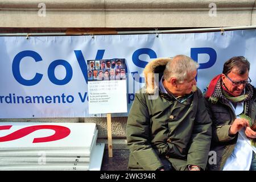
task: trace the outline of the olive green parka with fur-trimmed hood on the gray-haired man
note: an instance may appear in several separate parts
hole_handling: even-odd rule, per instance
[[[162,92],[157,92],[157,98],[150,98],[156,87],[154,78],[149,79],[147,73],[163,73],[168,60],[156,59],[147,64],[147,86],[141,89],[146,93],[135,94],[127,121],[129,169],[156,170],[163,166],[163,158],[176,170],[186,170],[189,164],[202,169],[207,166],[212,121],[201,91],[197,89],[182,104]]]

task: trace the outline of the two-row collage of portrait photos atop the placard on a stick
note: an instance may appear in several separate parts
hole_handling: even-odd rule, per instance
[[[88,60],[88,81],[125,80],[125,59]]]

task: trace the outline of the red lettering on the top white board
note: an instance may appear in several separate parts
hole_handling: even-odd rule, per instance
[[[11,128],[11,126],[12,125],[0,126],[0,130],[9,130]],[[13,133],[11,133],[9,135],[0,137],[0,142],[16,140],[16,139],[25,137],[26,135],[28,135],[36,130],[42,130],[42,129],[54,130],[55,134],[48,136],[48,137],[34,138],[33,143],[51,142],[51,141],[55,141],[55,140],[60,140],[60,139],[67,137],[71,133],[70,129],[65,126],[35,125],[35,126],[24,127],[23,129],[14,131]]]

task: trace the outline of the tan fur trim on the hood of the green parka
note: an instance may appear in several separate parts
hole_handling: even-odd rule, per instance
[[[170,60],[171,58],[168,58],[168,57],[158,58],[150,61],[150,63],[146,65],[143,71],[145,82],[146,82],[145,84],[146,93],[155,94],[157,87],[156,87],[156,84],[154,83],[155,82],[154,73],[159,73],[159,79],[160,79],[163,75],[164,69],[166,68],[166,64]]]

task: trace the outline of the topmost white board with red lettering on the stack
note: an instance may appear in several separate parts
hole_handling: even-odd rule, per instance
[[[91,150],[95,123],[1,122],[0,151]],[[67,153],[67,151],[66,151]]]

